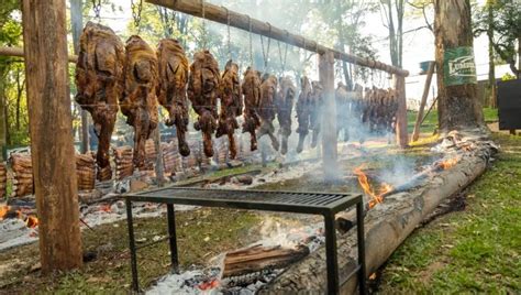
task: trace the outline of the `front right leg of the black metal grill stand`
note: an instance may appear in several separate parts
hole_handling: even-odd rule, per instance
[[[336,258],[336,230],[334,215],[324,216],[325,263],[328,266],[328,294],[339,294],[339,263]]]

